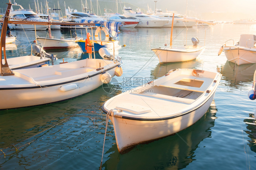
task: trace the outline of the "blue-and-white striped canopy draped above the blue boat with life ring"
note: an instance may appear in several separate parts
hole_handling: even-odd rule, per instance
[[[99,20],[81,20],[80,23],[101,24],[102,26],[106,27],[107,31],[115,38],[117,38],[120,33],[118,28],[124,25],[122,22],[99,21]]]

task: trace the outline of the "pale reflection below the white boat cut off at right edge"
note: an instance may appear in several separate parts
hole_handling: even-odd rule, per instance
[[[222,80],[225,80],[227,86],[240,88],[245,83],[253,81],[253,75],[256,64],[235,65],[232,62],[226,62],[225,65],[218,67],[217,70],[222,74]]]

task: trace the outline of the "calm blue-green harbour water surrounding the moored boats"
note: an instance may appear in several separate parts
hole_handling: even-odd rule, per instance
[[[164,65],[159,65],[150,49],[164,48],[165,43],[170,43],[170,28],[121,30],[120,45],[126,46],[115,54],[122,57],[124,73],[109,84],[117,91],[109,93],[109,86],[104,85],[63,102],[1,110],[0,149],[5,155],[0,151],[0,169],[99,169],[106,121],[102,104],[174,68],[222,74],[207,113],[179,135],[138,145],[123,155],[118,153],[113,125],[109,122],[102,169],[256,169],[256,103],[247,96],[256,64],[236,66],[227,62],[224,53],[217,55],[225,41],[237,42],[240,34],[255,34],[256,25],[217,24],[205,28],[174,28],[173,46],[185,44],[186,38],[191,44],[191,38],[197,36],[206,49],[196,60]],[[70,33],[60,31],[52,34],[56,38],[70,37]],[[13,30],[12,35],[17,36],[17,41],[7,45],[8,57],[31,53],[34,31]],[[37,31],[37,35],[46,36],[47,31]],[[79,47],[48,52],[57,54],[59,60],[55,64],[62,62],[62,58],[71,62],[87,57]]]

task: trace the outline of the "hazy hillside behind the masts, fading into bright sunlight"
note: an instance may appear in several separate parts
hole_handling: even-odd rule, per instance
[[[0,0],[0,13],[5,11],[6,3],[9,0]],[[12,0],[12,3],[14,1]],[[29,5],[33,11],[35,11],[35,2],[41,4],[43,9],[45,9],[46,0],[16,0],[17,4],[22,5],[25,9],[29,9]],[[48,0],[49,7],[51,9],[58,8],[58,2],[60,4],[60,9],[63,15],[65,15],[65,7],[70,7],[77,9],[77,11],[82,11],[82,3],[85,5],[85,0]],[[65,3],[64,3],[65,2]],[[136,8],[141,8],[142,12],[151,8],[152,10],[162,9],[163,12],[168,11],[177,11],[180,14],[187,14],[189,17],[197,17],[199,19],[205,20],[238,20],[246,18],[255,18],[256,6],[255,0],[214,0],[214,1],[205,1],[205,0],[179,0],[179,1],[170,1],[170,0],[91,0],[88,2],[88,8],[92,9],[94,13],[98,15],[104,15],[104,9],[111,9],[113,12],[122,14],[122,9],[124,5],[126,7],[131,7],[133,10]],[[98,2],[98,5],[97,5]],[[118,2],[118,7],[116,2]],[[97,8],[98,7],[98,8]]]

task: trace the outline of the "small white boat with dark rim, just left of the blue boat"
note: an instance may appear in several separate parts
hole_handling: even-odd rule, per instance
[[[79,41],[81,38],[67,38],[67,39],[56,39],[56,38],[36,38],[40,44],[43,46],[43,49],[64,49],[64,48],[72,48],[78,46],[76,41]]]

